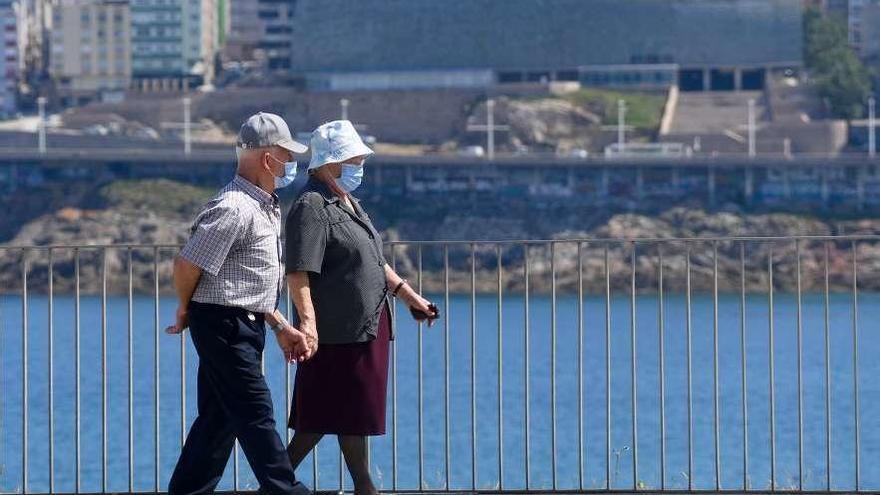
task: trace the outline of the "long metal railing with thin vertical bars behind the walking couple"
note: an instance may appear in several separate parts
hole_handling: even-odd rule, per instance
[[[880,405],[880,394],[862,376],[880,367],[860,363],[859,354],[877,345],[859,332],[860,320],[880,309],[871,292],[880,280],[860,269],[860,258],[880,255],[878,248],[880,236],[389,243],[389,263],[442,301],[442,316],[440,332],[421,324],[411,332],[407,312],[395,311],[390,435],[371,439],[371,471],[390,491],[876,489],[877,459],[862,462],[861,415]],[[195,414],[187,386],[194,350],[186,334],[171,348],[161,331],[176,305],[167,294],[177,249],[0,247],[2,417],[20,415],[0,428],[4,452],[20,453],[5,456],[0,472],[10,486],[0,491],[165,489]],[[98,313],[92,334],[82,323],[84,303]],[[72,305],[72,320],[59,319],[59,304],[63,313]],[[62,326],[72,357],[56,345]],[[265,365],[280,415],[289,413],[293,370],[271,345]],[[100,366],[84,367],[85,351]],[[127,368],[127,381],[117,383],[123,404],[123,394],[109,390],[118,359]],[[138,360],[149,362],[149,380]],[[68,365],[72,377],[56,373]],[[84,384],[100,397],[89,396],[100,416],[90,448],[82,439]],[[57,436],[57,387],[73,395],[73,440]],[[144,403],[152,414],[139,410]],[[35,424],[35,414],[45,424]],[[179,431],[169,434],[169,422]],[[279,428],[285,424],[279,418]],[[34,434],[45,445],[35,445]],[[172,450],[163,450],[166,442]],[[59,458],[59,444],[72,462]],[[61,461],[69,465],[59,470]],[[298,474],[313,487],[328,489],[327,472],[336,478],[337,468],[329,486],[351,486],[335,447],[322,443],[310,461],[311,473],[306,463]],[[780,463],[791,464],[787,474]],[[228,489],[253,488],[241,484],[240,464],[236,444]]]

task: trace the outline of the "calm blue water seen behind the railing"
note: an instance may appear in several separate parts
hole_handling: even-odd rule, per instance
[[[441,296],[434,296],[443,301]],[[611,301],[611,453],[606,441],[605,300],[588,296],[582,301],[582,333],[577,325],[578,300],[560,296],[556,306],[555,373],[551,366],[553,341],[551,301],[533,295],[529,313],[529,472],[531,488],[602,488],[610,473],[612,488],[648,488],[661,485],[660,466],[660,381],[658,299],[640,295],[635,307],[637,340],[637,455],[634,479],[631,401],[631,308],[627,295]],[[134,445],[132,483],[135,490],[164,490],[181,446],[182,428],[196,415],[197,355],[188,336],[158,335],[157,329],[172,321],[176,302],[159,301],[155,321],[151,296],[133,301],[133,404]],[[713,299],[696,295],[692,305],[692,405],[694,488],[714,488],[716,446],[713,381]],[[526,484],[525,439],[525,324],[521,294],[505,295],[498,320],[497,298],[454,295],[448,313],[448,327],[441,321],[434,328],[422,328],[398,315],[396,386],[389,388],[388,435],[371,441],[372,470],[381,488],[442,488],[447,482],[446,404],[448,417],[448,480],[452,488],[523,488]],[[862,489],[880,489],[880,294],[860,294],[860,484]],[[776,485],[799,484],[797,407],[796,298],[776,294],[774,304]],[[686,375],[686,308],[682,295],[665,299],[665,486],[688,485],[688,422]],[[803,483],[805,488],[824,488],[826,469],[825,415],[825,319],[824,296],[803,297]],[[853,305],[848,294],[833,294],[829,307],[831,355],[831,488],[851,489],[855,485],[855,414],[853,402]],[[472,326],[472,316],[475,325]],[[769,308],[766,295],[750,295],[746,301],[745,327],[748,398],[748,474],[744,476],[743,417],[739,296],[723,295],[718,305],[720,436],[720,486],[740,488],[744,478],[750,488],[770,484],[769,414]],[[21,298],[0,296],[0,491],[21,490],[22,482],[22,335],[28,336],[28,490],[49,489],[48,411],[48,299],[29,298],[28,326],[22,325]],[[54,299],[54,483],[56,491],[75,489],[75,395],[74,395],[74,300]],[[472,333],[475,330],[475,333]],[[583,346],[578,355],[579,335]],[[81,490],[102,489],[101,421],[101,300],[81,300]],[[128,300],[112,296],[107,304],[107,468],[108,491],[129,487],[129,356]],[[421,415],[419,413],[419,337],[421,337]],[[449,343],[449,383],[446,342]],[[499,340],[500,339],[500,340]],[[502,440],[499,448],[499,341],[502,352]],[[186,418],[181,418],[181,345],[185,352]],[[475,359],[472,358],[475,356]],[[265,370],[275,401],[275,416],[282,435],[286,424],[287,368],[274,340],[267,339]],[[583,394],[579,399],[578,360],[582,362]],[[154,376],[158,366],[158,469],[155,451],[156,403]],[[476,368],[473,369],[472,367]],[[471,387],[472,372],[476,388]],[[551,375],[555,376],[556,449],[552,449],[554,413],[551,407]],[[391,393],[393,390],[393,394]],[[471,399],[475,396],[475,415]],[[583,450],[579,456],[578,416],[582,414]],[[396,420],[392,419],[396,417]],[[422,424],[419,455],[419,421]],[[392,428],[392,422],[396,428]],[[474,423],[475,422],[475,423]],[[475,428],[473,428],[475,424]],[[476,436],[473,433],[476,432]],[[396,434],[395,434],[396,433]],[[396,462],[392,445],[396,444]],[[476,446],[476,451],[472,446]],[[499,476],[503,453],[503,470]],[[421,469],[419,459],[421,457]],[[555,457],[555,465],[553,463]],[[476,460],[476,465],[472,460]],[[610,459],[610,464],[607,464]],[[313,469],[317,466],[318,480]],[[396,470],[395,470],[396,467]],[[234,483],[232,462],[220,489]],[[555,475],[554,475],[555,471]],[[474,479],[473,474],[476,474]],[[396,474],[396,476],[395,476]],[[158,479],[157,479],[158,475]],[[306,459],[299,477],[311,486],[335,489],[351,487],[347,473],[340,476],[336,441],[325,438],[318,447],[317,462]],[[239,453],[239,486],[256,488],[243,453]]]

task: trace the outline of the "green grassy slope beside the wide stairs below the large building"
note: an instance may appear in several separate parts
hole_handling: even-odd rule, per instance
[[[563,96],[569,102],[589,108],[602,117],[602,124],[617,123],[617,100],[626,102],[626,123],[639,129],[655,130],[660,127],[666,96],[651,93],[631,93],[607,89],[584,88]]]

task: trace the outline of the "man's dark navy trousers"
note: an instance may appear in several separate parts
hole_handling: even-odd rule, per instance
[[[275,430],[272,398],[261,368],[266,342],[263,315],[191,302],[188,317],[199,354],[199,415],[186,437],[168,493],[213,493],[238,438],[261,493],[310,494],[296,481]]]

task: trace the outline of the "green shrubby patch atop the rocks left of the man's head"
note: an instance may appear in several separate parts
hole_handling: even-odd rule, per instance
[[[142,210],[160,216],[190,216],[215,191],[168,179],[125,180],[101,188],[101,199],[108,207]]]

